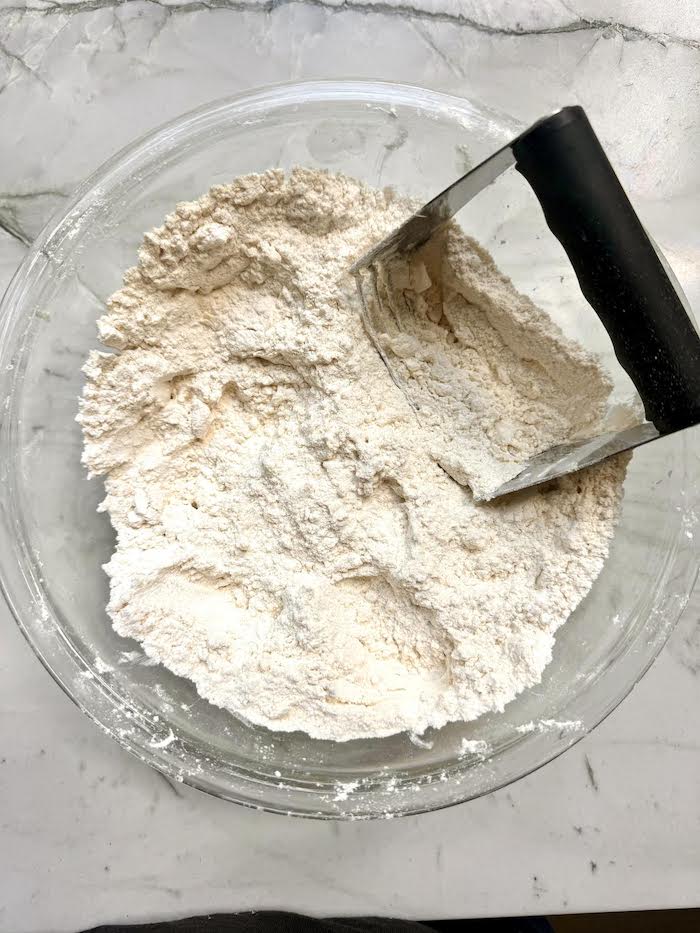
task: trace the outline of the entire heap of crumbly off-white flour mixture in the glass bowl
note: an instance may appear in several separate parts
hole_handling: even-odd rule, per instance
[[[406,211],[303,169],[181,204],[99,322],[118,352],[85,367],[116,631],[271,729],[420,735],[502,710],[540,680],[614,529],[619,460],[488,505],[460,485],[594,425],[609,386],[452,227],[442,260],[381,284],[419,418],[347,272]]]

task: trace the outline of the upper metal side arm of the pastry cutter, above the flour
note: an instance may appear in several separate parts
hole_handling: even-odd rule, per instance
[[[515,142],[516,140],[513,140]],[[421,246],[436,230],[447,223],[475,195],[492,184],[500,175],[515,165],[513,142],[494,152],[476,168],[458,178],[449,188],[445,188],[436,198],[428,201],[419,211],[390,233],[368,253],[365,253],[351,266],[350,272],[358,273],[377,260],[388,259],[398,252],[407,252]]]

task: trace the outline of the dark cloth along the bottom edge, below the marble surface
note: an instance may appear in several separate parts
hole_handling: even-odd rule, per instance
[[[347,917],[319,920],[302,914],[260,910],[211,914],[161,923],[95,927],[85,933],[552,933],[544,917],[498,920],[397,920],[391,917]]]

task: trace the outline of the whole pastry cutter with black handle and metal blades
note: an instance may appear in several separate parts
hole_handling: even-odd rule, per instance
[[[700,423],[700,337],[673,273],[645,232],[582,107],[564,107],[538,120],[359,259],[351,272],[361,296],[363,274],[376,273],[378,264],[396,253],[422,246],[511,166],[529,183],[563,246],[639,393],[645,421],[542,451],[489,499]],[[363,298],[362,304],[368,335],[402,387],[380,346],[371,303]]]

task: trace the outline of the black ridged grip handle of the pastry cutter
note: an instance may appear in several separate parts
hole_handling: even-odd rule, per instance
[[[581,291],[660,433],[700,422],[700,337],[581,107],[513,144]]]

